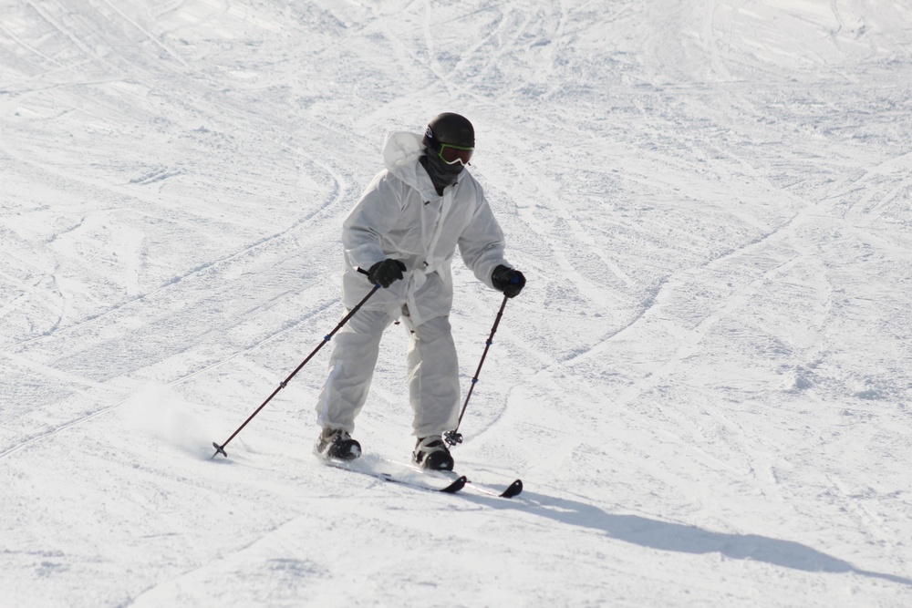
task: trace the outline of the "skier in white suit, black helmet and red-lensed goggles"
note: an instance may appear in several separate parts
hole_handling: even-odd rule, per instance
[[[342,229],[347,309],[373,285],[383,289],[336,336],[316,405],[323,428],[318,453],[337,459],[361,455],[351,438],[355,418],[368,398],[380,337],[401,319],[410,333],[409,402],[418,438],[412,459],[425,469],[452,470],[441,435],[456,427],[460,403],[449,318],[456,247],[482,283],[507,297],[525,284],[523,273],[503,257],[503,232],[482,187],[465,170],[474,147],[472,123],[449,112],[431,119],[423,138],[403,131],[387,135],[386,169],[368,184]]]

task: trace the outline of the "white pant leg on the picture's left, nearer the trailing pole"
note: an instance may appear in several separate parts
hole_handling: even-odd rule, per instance
[[[316,403],[318,425],[354,432],[355,418],[368,400],[380,338],[390,323],[388,314],[362,308],[337,332],[329,376]]]

